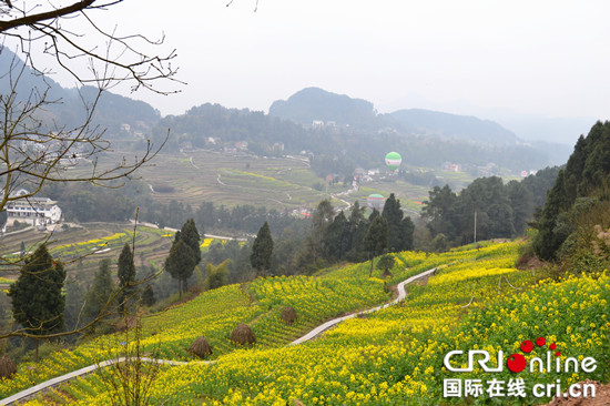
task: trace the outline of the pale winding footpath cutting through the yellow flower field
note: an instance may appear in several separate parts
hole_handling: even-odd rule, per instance
[[[388,302],[388,303],[386,303],[384,305],[380,305],[380,306],[367,308],[366,311],[352,313],[352,314],[348,314],[347,316],[333,318],[333,319],[331,319],[331,321],[328,321],[324,324],[321,324],[316,328],[312,329],[309,333],[305,334],[303,337],[295,339],[294,342],[292,342],[288,345],[298,345],[298,344],[305,343],[305,342],[307,342],[312,338],[317,337],[318,335],[321,335],[322,333],[324,333],[325,331],[327,331],[328,328],[331,328],[335,324],[338,324],[338,323],[340,323],[343,321],[346,321],[348,318],[356,317],[359,314],[374,313],[374,312],[380,311],[382,308],[386,308],[386,307],[389,307],[392,305],[395,305],[397,303],[403,302],[405,300],[405,297],[407,297],[407,291],[405,290],[405,285],[407,285],[409,283],[413,283],[414,281],[420,280],[423,277],[430,276],[436,272],[436,270],[437,268],[434,267],[431,270],[424,271],[420,274],[417,274],[415,276],[411,276],[411,277],[407,278],[406,281],[400,282],[397,285],[398,296],[394,301]],[[92,373],[93,371],[95,371],[98,368],[104,368],[106,366],[114,365],[116,363],[122,363],[125,359],[126,359],[125,357],[121,357],[121,358],[116,358],[116,359],[109,359],[109,361],[101,362],[99,364],[93,364],[93,365],[87,366],[84,368],[73,371],[73,372],[71,372],[69,374],[65,374],[65,375],[62,375],[62,376],[58,376],[55,378],[43,382],[42,384],[38,384],[38,385],[32,386],[28,389],[21,390],[21,392],[17,393],[12,396],[0,399],[0,405],[10,405],[14,402],[23,400],[24,398],[30,397],[30,396],[32,396],[32,395],[41,392],[41,390],[44,390],[44,389],[48,389],[52,386],[62,384],[67,380],[73,379],[75,377],[90,374],[90,373]],[[193,362],[157,359],[157,358],[149,358],[149,357],[142,357],[140,359],[143,361],[143,362],[146,362],[146,363],[159,363],[159,364],[165,364],[165,365],[186,365],[186,364],[193,363]],[[216,361],[195,361],[194,363],[203,363],[203,364],[209,364],[210,365],[210,364],[215,364]]]

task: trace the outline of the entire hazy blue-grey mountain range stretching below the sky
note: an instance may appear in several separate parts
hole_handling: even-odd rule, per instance
[[[11,61],[22,65],[14,58],[10,50],[0,48],[0,71],[8,70]],[[0,81],[1,94],[11,90],[8,82]],[[63,89],[26,68],[18,95],[27,99],[31,89],[47,87],[50,99],[61,102],[51,104],[44,119],[67,128],[82,124],[81,98],[92,100],[96,89]],[[312,125],[314,121],[318,123]],[[378,114],[372,102],[318,88],[303,89],[285,101],[274,102],[268,114],[206,103],[163,119],[145,102],[104,92],[91,124],[106,128],[109,139],[138,141],[139,145],[146,139],[163,142],[171,129],[165,151],[206,148],[260,156],[303,153],[315,156],[312,165],[321,173],[324,168],[346,175],[355,166],[383,163],[388,151],[401,153],[404,162],[414,166],[439,168],[449,162],[470,171],[494,163],[520,173],[565,162],[550,161],[549,148],[519,142],[514,133],[491,121],[419,109]]]

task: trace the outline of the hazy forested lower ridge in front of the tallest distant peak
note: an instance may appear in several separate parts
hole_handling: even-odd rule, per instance
[[[166,151],[206,148],[242,150],[257,155],[307,151],[313,154],[312,168],[319,175],[337,173],[348,179],[356,166],[383,165],[388,151],[400,153],[406,165],[440,168],[445,162],[456,162],[475,172],[477,166],[489,163],[518,173],[552,163],[545,151],[518,143],[492,145],[458,139],[441,140],[436,135],[423,136],[396,129],[364,130],[327,122],[302,125],[263,112],[210,103],[192,108],[182,115],[162,119],[153,130],[153,140],[161,140],[167,129],[172,130],[172,136]]]

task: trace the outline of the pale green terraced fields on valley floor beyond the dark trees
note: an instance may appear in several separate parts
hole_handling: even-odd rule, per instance
[[[104,160],[116,162],[122,156],[108,154]],[[85,166],[83,163],[80,170]],[[395,193],[410,214],[417,214],[421,206],[418,202],[428,197],[428,187],[387,177],[363,183],[360,191],[334,199],[334,194],[345,192],[352,186],[326,185],[302,159],[233,155],[203,150],[187,154],[160,153],[136,174],[153,190],[155,185],[173,187],[173,191],[164,191],[166,193],[153,192],[152,196],[156,201],[167,204],[176,200],[193,207],[205,201],[216,205],[253,204],[284,211],[315,207],[323,199],[332,199],[340,207],[345,206],[342,201],[353,203],[359,200],[364,203],[370,193],[385,196]],[[474,180],[466,173],[439,174],[446,175],[451,184],[462,186]],[[324,185],[323,191],[313,189],[316,184]]]

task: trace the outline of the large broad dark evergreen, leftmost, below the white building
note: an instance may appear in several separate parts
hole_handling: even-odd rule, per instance
[[[9,290],[13,318],[26,333],[44,336],[63,329],[64,280],[61,262],[53,261],[45,244],[40,245]]]

